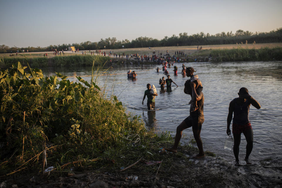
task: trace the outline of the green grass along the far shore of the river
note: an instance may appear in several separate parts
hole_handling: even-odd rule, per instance
[[[208,46],[207,46],[208,47]],[[222,46],[214,46],[212,48],[203,50],[194,50],[192,49],[178,49],[184,51],[184,56],[178,56],[180,62],[222,62],[222,61],[281,61],[282,60],[282,47],[264,47],[264,48],[245,48],[245,46],[237,45],[236,48],[231,48],[232,46],[224,46],[226,48],[220,49]],[[160,53],[165,54],[164,47],[160,49]],[[170,54],[173,55],[176,49],[170,50]],[[150,56],[151,51],[144,51],[144,49],[124,49],[125,54],[129,53],[140,53],[147,54]],[[67,54],[67,53],[66,53]],[[112,63],[123,64],[123,63],[134,63],[137,60],[124,58],[113,58],[109,56],[91,56],[90,53],[87,55],[72,53],[67,54],[66,56],[51,56],[51,58],[38,57],[36,54],[31,54],[28,56],[28,62],[32,67],[57,67],[57,66],[92,66],[92,62],[95,59],[96,65],[110,66]],[[42,55],[42,54],[41,54]],[[23,65],[26,64],[24,58],[19,58],[20,56],[2,56],[0,58],[0,68],[9,68],[14,62],[20,61]],[[48,56],[49,57],[49,56]],[[144,63],[155,63],[155,62],[143,62]]]

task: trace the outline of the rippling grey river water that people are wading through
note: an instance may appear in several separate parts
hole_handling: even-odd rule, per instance
[[[203,84],[204,116],[201,137],[204,150],[215,152],[225,160],[234,161],[233,151],[224,150],[226,139],[226,118],[229,102],[238,97],[241,87],[249,89],[260,104],[257,110],[251,106],[249,119],[254,131],[254,149],[250,160],[268,157],[282,157],[282,62],[224,62],[224,63],[184,63],[192,66]],[[173,68],[168,69],[172,80],[172,92],[160,92],[159,79],[164,76],[157,73],[156,65],[127,65],[113,66],[108,76],[100,76],[99,83],[103,87],[106,81],[107,95],[118,96],[128,112],[141,115],[147,128],[156,127],[158,131],[170,131],[175,135],[176,127],[189,115],[190,96],[183,93],[184,83],[187,80],[182,76],[182,64],[178,66],[178,75],[173,75]],[[161,67],[161,66],[159,66]],[[137,79],[127,79],[126,72],[131,69],[137,72]],[[45,76],[60,72],[66,76],[91,75],[91,68],[50,68],[44,69]],[[76,80],[71,77],[70,80]],[[83,77],[90,81],[90,77]],[[148,111],[147,98],[142,105],[146,84],[154,84],[158,91],[155,111]],[[191,128],[185,130],[182,144],[188,143],[192,137]],[[246,140],[241,136],[240,160],[244,159]]]

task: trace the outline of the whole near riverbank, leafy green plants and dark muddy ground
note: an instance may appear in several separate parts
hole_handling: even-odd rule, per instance
[[[89,82],[80,78],[86,86],[61,74],[56,75],[59,82],[55,76],[42,78],[40,70],[33,72],[27,82],[16,65],[1,77],[0,183],[7,187],[281,185],[281,159],[235,167],[206,150],[206,157],[196,160],[193,139],[177,154],[159,155],[160,148],[172,144],[170,134],[145,130],[141,118],[125,114],[115,96],[105,100],[103,87],[93,84],[88,90]],[[41,80],[40,87],[34,78]],[[52,171],[43,174],[47,167]]]

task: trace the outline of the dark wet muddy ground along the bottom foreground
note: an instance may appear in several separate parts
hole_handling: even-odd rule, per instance
[[[14,174],[0,179],[0,187],[282,187],[282,162],[266,159],[257,164],[235,166],[218,157],[193,159],[191,153],[168,153],[173,162],[164,164],[143,160],[121,172],[120,169],[88,169],[84,172],[54,175]],[[52,175],[53,174],[53,175]]]

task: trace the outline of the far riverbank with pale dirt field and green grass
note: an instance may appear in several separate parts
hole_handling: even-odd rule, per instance
[[[102,50],[106,56],[97,55],[94,51],[84,51],[84,53],[64,52],[61,55],[54,55],[53,52],[46,53],[24,53],[28,62],[32,67],[64,67],[64,66],[92,66],[95,59],[96,65],[111,66],[113,63],[117,65],[143,63],[158,63],[157,60],[142,61],[141,56],[151,57],[157,56],[158,59],[166,59],[166,53],[171,56],[171,61],[179,62],[223,62],[223,61],[281,61],[282,60],[282,43],[266,43],[266,44],[236,44],[236,45],[209,45],[202,46],[202,50],[197,50],[198,46],[179,46],[179,47],[159,47],[159,48],[130,48]],[[201,46],[200,46],[201,47]],[[110,51],[112,55],[109,56]],[[180,55],[177,51],[183,52]],[[92,53],[93,52],[93,53]],[[114,56],[113,53],[117,53]],[[119,56],[129,54],[129,58]],[[131,57],[131,54],[139,54],[138,58]],[[93,55],[92,55],[93,54]],[[94,55],[95,54],[95,55]],[[10,54],[11,55],[11,54]],[[25,59],[18,56],[10,56],[9,54],[0,55],[0,68],[9,68],[17,61],[26,65]],[[175,56],[175,59],[172,57]]]

